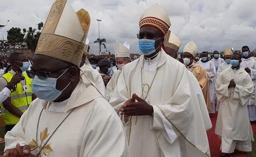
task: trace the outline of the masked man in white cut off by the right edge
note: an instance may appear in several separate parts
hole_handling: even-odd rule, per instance
[[[249,112],[250,121],[256,120],[256,58],[250,53],[248,46],[242,47],[242,63],[241,67],[251,76],[254,83],[254,90],[251,99],[249,100],[247,107]]]

